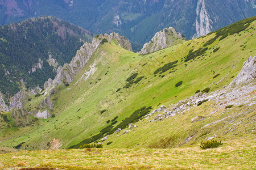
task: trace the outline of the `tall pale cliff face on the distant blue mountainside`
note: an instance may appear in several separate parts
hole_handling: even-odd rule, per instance
[[[210,32],[210,29],[212,29],[212,27],[210,26],[212,20],[209,19],[208,12],[205,8],[204,0],[199,0],[197,2],[196,15],[197,37],[207,35]]]

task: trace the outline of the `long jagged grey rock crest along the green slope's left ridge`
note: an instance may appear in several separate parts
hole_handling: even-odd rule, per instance
[[[55,87],[57,84],[71,83],[76,74],[81,71],[81,69],[89,61],[90,57],[92,57],[92,54],[95,52],[98,45],[100,45],[100,42],[104,38],[108,39],[110,42],[115,39],[117,40],[118,45],[122,48],[130,51],[132,50],[129,40],[123,36],[120,36],[118,33],[111,33],[110,35],[106,33],[105,35],[97,35],[94,37],[92,44],[90,44],[90,42],[85,42],[85,44],[81,46],[80,50],[77,50],[76,56],[73,57],[69,64],[65,63],[63,67],[59,66],[55,79],[52,80],[49,78],[47,82],[44,83],[44,88],[51,86]]]

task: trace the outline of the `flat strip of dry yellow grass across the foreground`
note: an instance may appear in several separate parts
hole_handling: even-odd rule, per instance
[[[0,155],[0,169],[253,169],[255,138],[240,138],[219,148],[197,145],[173,149],[108,149],[22,151]]]

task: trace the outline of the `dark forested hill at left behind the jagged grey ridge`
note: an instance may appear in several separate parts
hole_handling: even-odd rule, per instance
[[[70,62],[93,34],[51,16],[28,19],[0,28],[0,91],[10,97],[23,87],[43,88],[57,67]]]

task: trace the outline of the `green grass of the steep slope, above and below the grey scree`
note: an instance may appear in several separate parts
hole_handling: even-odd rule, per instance
[[[220,29],[208,36],[146,55],[122,49],[114,41],[104,43],[69,86],[56,87],[57,93],[51,96],[51,100],[55,102],[51,113],[55,117],[39,119],[40,126],[2,141],[0,145],[13,147],[22,143],[20,148],[26,150],[68,148],[94,142],[110,134],[108,141],[113,143],[104,143],[104,147],[154,148],[164,138],[171,141],[168,147],[179,147],[189,135],[196,134],[197,138],[184,145],[188,146],[193,142],[198,144],[205,139],[204,135],[210,137],[216,130],[224,132],[226,127],[222,124],[210,126],[205,131],[200,129],[201,122],[189,124],[191,118],[201,112],[211,112],[212,103],[205,103],[189,113],[155,124],[147,124],[146,120],[139,121],[136,123],[138,129],[126,135],[117,137],[118,134],[113,134],[117,127],[127,126],[160,105],[184,100],[197,90],[209,87],[211,92],[229,84],[240,72],[243,62],[256,53],[255,19],[249,18],[230,26],[233,31],[222,40],[220,39],[225,33],[221,34]],[[240,25],[246,23],[247,27],[241,29]],[[219,37],[215,39],[216,33]],[[206,42],[209,45],[204,46]],[[94,74],[87,80],[80,79],[92,68],[96,70]],[[220,75],[213,78],[217,74]],[[180,81],[183,83],[176,87],[175,84]],[[32,96],[25,108],[39,105],[39,98]],[[255,109],[245,106],[231,108],[230,114],[238,112],[237,109],[248,113],[245,118],[255,116]],[[214,113],[214,120],[221,117],[217,114],[220,112]],[[248,130],[253,125],[247,128],[239,126],[237,129],[241,131],[240,137],[253,135]],[[228,134],[223,138],[232,140],[235,137]]]

